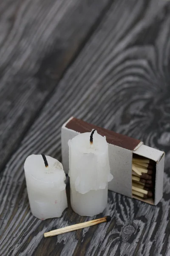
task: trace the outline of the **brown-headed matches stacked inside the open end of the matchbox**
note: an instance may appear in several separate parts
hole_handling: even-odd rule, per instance
[[[154,201],[156,163],[146,157],[133,153],[132,159],[132,196]]]

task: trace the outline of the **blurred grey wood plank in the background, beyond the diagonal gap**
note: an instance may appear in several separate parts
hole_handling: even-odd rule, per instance
[[[0,168],[111,0],[0,3]]]

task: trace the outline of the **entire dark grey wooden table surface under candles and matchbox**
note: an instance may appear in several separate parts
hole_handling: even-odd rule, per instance
[[[0,1],[0,102],[0,256],[170,255],[169,1]],[[23,163],[61,160],[70,116],[165,151],[164,196],[151,206],[109,191],[96,218],[110,223],[45,239],[93,219],[29,209]]]

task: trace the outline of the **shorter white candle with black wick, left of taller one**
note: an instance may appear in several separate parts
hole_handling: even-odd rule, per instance
[[[32,154],[24,170],[32,214],[41,220],[60,217],[68,207],[62,164],[53,157]]]

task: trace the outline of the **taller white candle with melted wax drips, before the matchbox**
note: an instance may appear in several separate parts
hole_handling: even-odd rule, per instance
[[[69,140],[68,145],[71,207],[82,216],[99,214],[107,205],[108,181],[113,178],[106,138],[97,131],[87,132]]]

